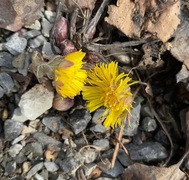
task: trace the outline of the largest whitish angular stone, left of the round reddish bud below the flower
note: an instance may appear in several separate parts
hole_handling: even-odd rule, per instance
[[[36,84],[22,95],[19,102],[21,113],[29,120],[35,120],[52,107],[53,97],[52,90],[48,90],[41,84]]]

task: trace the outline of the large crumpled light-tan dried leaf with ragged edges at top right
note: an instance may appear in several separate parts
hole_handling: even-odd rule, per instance
[[[166,3],[156,0],[118,0],[108,7],[105,21],[131,38],[150,33],[166,42],[180,23],[180,1]]]

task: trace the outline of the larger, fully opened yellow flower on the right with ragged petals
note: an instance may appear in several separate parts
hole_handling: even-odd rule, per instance
[[[87,100],[90,112],[101,106],[106,109],[101,118],[105,127],[120,126],[132,108],[133,94],[130,86],[136,81],[128,74],[118,74],[118,63],[96,65],[88,72],[87,85],[82,90],[83,99]]]

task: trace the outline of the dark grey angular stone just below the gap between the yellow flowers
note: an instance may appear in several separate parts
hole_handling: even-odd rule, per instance
[[[72,125],[75,134],[82,132],[87,127],[87,124],[90,120],[91,115],[85,109],[74,111],[69,118],[70,124]]]

